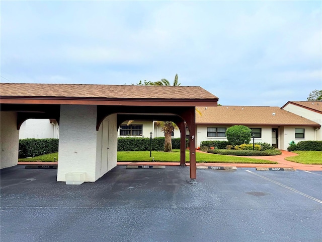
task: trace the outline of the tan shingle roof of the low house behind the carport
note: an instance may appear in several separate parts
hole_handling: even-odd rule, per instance
[[[217,106],[197,108],[199,108],[202,115],[196,113],[196,124],[319,126],[319,124],[309,119],[279,107]]]

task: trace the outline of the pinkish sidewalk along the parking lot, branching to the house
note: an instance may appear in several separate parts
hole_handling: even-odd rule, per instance
[[[202,152],[196,150],[196,152]],[[253,159],[263,159],[276,161],[278,164],[247,164],[247,163],[197,163],[197,166],[236,166],[236,167],[282,167],[282,168],[294,168],[296,170],[320,170],[322,171],[322,165],[306,165],[296,162],[287,161],[284,158],[289,156],[295,156],[297,154],[281,150],[281,155],[272,156],[239,156],[248,157]],[[18,162],[18,165],[57,165],[58,162]],[[117,162],[117,165],[180,165],[180,162]],[[189,166],[189,163],[186,163]]]

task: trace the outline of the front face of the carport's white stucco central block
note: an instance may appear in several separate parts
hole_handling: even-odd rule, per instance
[[[96,180],[96,105],[61,105],[57,181],[68,172],[86,172]]]

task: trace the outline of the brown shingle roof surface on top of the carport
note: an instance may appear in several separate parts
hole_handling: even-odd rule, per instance
[[[201,87],[1,83],[1,96],[85,98],[218,99]]]

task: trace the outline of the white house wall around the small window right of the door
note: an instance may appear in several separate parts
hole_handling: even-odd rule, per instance
[[[295,138],[295,129],[304,129],[304,139],[296,139]],[[314,140],[314,128],[312,127],[303,127],[303,126],[285,126],[284,127],[284,143],[282,146],[284,146],[284,149],[286,150],[289,146],[289,143],[291,141],[294,141],[296,144],[300,141],[307,141],[307,140]]]

